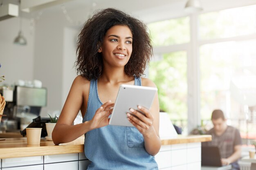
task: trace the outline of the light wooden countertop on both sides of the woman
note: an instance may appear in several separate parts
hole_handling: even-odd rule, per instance
[[[175,139],[163,139],[162,145],[170,144],[185,144],[193,142],[211,141],[211,135],[179,135]],[[31,157],[40,155],[58,155],[67,153],[80,153],[84,152],[84,137],[60,145],[54,145],[52,141],[41,139],[40,146],[27,145],[27,138],[6,138],[0,140],[0,159],[14,158],[14,157]]]

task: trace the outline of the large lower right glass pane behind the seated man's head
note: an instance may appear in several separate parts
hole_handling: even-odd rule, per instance
[[[201,118],[222,109],[242,135],[256,137],[256,40],[200,47]],[[245,135],[246,136],[246,135]]]

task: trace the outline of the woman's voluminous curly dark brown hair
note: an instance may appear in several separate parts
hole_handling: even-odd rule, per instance
[[[147,27],[141,21],[113,8],[95,13],[83,26],[76,49],[77,74],[80,73],[87,80],[101,76],[103,59],[98,50],[108,29],[115,25],[126,25],[132,32],[132,54],[124,67],[125,73],[137,77],[143,74],[153,54]]]

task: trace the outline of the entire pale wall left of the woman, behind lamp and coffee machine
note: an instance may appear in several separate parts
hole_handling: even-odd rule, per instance
[[[44,14],[30,30],[30,20],[22,20],[26,46],[13,44],[18,35],[19,18],[0,21],[0,75],[6,77],[1,85],[12,86],[18,79],[38,79],[47,88],[47,106],[41,116],[61,111],[71,84],[76,77],[76,37],[78,29],[65,27],[63,14]],[[32,33],[32,34],[31,34]]]

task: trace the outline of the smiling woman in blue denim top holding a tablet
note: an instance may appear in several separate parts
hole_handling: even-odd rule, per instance
[[[85,156],[92,161],[88,170],[157,170],[153,157],[161,146],[157,95],[149,110],[138,106],[127,113],[135,127],[108,124],[111,101],[121,84],[155,87],[140,78],[152,55],[146,26],[116,9],[99,11],[81,30],[77,54],[81,75],[74,79],[52,132],[54,144],[85,134]],[[79,110],[83,123],[72,125]]]

